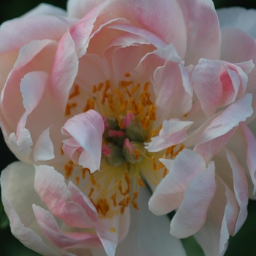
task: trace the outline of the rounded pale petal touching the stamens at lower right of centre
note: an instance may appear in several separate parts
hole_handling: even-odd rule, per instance
[[[200,154],[185,148],[173,160],[169,173],[154,191],[148,202],[149,210],[156,215],[163,215],[178,208],[184,200],[189,181],[205,169],[206,162]]]

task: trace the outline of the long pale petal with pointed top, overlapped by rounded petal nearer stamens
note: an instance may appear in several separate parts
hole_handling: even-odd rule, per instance
[[[214,162],[210,162],[206,170],[189,182],[184,201],[170,222],[171,235],[186,238],[203,226],[216,187],[215,166]]]

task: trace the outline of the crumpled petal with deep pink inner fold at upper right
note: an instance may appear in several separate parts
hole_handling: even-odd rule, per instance
[[[252,62],[250,61],[252,64]],[[252,64],[252,68],[254,65]],[[195,93],[207,116],[244,94],[247,75],[241,67],[224,61],[200,59],[192,73]],[[241,92],[240,92],[241,91]],[[240,94],[239,94],[240,92]]]

